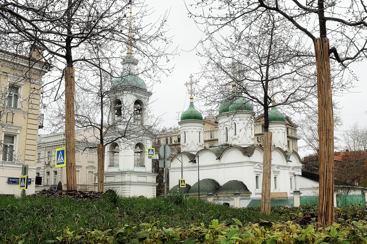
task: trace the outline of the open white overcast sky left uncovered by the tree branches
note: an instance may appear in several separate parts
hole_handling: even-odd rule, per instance
[[[203,33],[197,28],[193,20],[188,18],[188,11],[182,0],[146,1],[146,3],[155,10],[155,14],[152,17],[154,15],[159,16],[164,11],[170,10],[167,20],[170,30],[167,35],[173,36],[173,43],[178,46],[180,54],[171,60],[175,64],[172,75],[168,78],[162,76],[161,83],[153,86],[151,100],[155,102],[151,105],[151,108],[156,115],[163,114],[161,126],[177,126],[177,112],[182,112],[189,105],[185,83],[189,80],[190,74],[193,74],[195,79],[199,76],[195,74],[200,72],[200,60],[195,55],[195,50],[189,50],[195,47],[197,42],[203,37]],[[352,67],[353,71],[361,79],[358,82],[354,82],[355,88],[349,93],[333,97],[334,101],[339,102],[341,109],[337,112],[343,120],[343,126],[339,129],[340,131],[335,131],[335,134],[342,133],[341,131],[355,121],[363,124],[367,123],[367,60],[363,63],[354,64]],[[195,103],[198,108],[205,110],[200,104],[204,104],[204,102],[196,101]],[[294,117],[292,115],[292,119],[298,120],[299,116]]]

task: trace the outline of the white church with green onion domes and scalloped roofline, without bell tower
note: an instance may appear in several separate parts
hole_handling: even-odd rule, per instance
[[[234,102],[219,106],[218,146],[205,148],[203,143],[203,116],[190,97],[189,108],[179,121],[183,178],[188,188],[185,193],[196,197],[230,196],[233,194],[261,197],[263,147],[256,144],[254,112],[250,102],[241,93]],[[294,191],[303,195],[318,193],[318,174],[302,169],[301,158],[295,151],[287,151],[286,119],[276,108],[269,112],[269,130],[272,138],[273,196],[292,196]],[[181,157],[172,159],[170,189],[177,191],[181,178]],[[196,162],[196,164],[193,164]],[[198,176],[199,164],[199,176]],[[200,178],[200,189],[198,187]],[[191,187],[192,186],[192,187]],[[360,191],[360,189],[356,189]]]

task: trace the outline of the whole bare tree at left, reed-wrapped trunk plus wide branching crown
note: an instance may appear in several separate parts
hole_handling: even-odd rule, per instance
[[[134,5],[137,13],[132,16],[136,22],[132,30],[129,25],[128,11]],[[120,45],[134,47],[145,67],[142,71],[151,70],[157,74],[165,70],[160,65],[161,57],[168,57],[167,48],[170,38],[165,36],[166,16],[153,25],[144,25],[142,17],[147,15],[142,3],[132,0],[121,1],[87,1],[87,0],[29,0],[18,2],[5,1],[0,4],[0,41],[1,48],[14,50],[24,55],[27,46],[40,47],[45,52],[42,58],[52,64],[59,75],[55,75],[52,86],[55,100],[64,94],[60,88],[65,79],[65,131],[67,189],[76,190],[75,173],[75,78],[78,71],[83,71],[88,64],[105,72],[108,69],[99,66],[99,60],[113,60],[110,65],[120,59]],[[163,45],[155,45],[161,42]],[[125,45],[124,45],[125,46]],[[94,56],[92,50],[103,49],[104,56]],[[65,67],[57,68],[57,67]],[[76,69],[76,70],[75,70]],[[113,70],[113,69],[110,69]],[[114,76],[115,74],[110,74]],[[115,76],[116,77],[116,76]]]

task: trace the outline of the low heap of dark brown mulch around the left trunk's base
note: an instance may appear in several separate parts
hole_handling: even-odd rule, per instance
[[[103,192],[97,191],[57,191],[50,189],[43,189],[39,193],[29,195],[30,197],[46,196],[47,198],[74,198],[74,199],[92,199],[98,200],[103,198]]]

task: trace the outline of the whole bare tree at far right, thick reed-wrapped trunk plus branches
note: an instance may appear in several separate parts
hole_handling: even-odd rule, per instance
[[[319,137],[320,137],[320,197],[319,221],[321,224],[334,222],[334,164],[333,164],[333,105],[330,65],[341,63],[343,70],[353,61],[366,58],[367,41],[365,15],[367,7],[363,0],[306,1],[298,0],[202,0],[191,5],[200,8],[194,15],[198,23],[205,24],[206,40],[214,33],[226,29],[234,22],[250,25],[259,16],[276,13],[291,23],[297,33],[305,34],[315,48]],[[327,23],[330,23],[327,25]],[[287,34],[287,37],[291,35]],[[320,36],[318,38],[317,36]],[[331,38],[332,46],[329,46]],[[308,40],[304,40],[305,43]],[[331,62],[330,62],[331,59]],[[336,68],[335,68],[336,70]],[[322,112],[321,112],[322,111]]]

